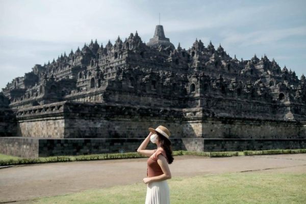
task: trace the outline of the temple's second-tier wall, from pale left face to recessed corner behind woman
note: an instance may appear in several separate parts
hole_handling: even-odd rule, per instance
[[[176,109],[63,101],[18,111],[17,136],[139,138],[148,134],[148,127],[160,124],[172,135],[182,136],[181,121],[182,112]]]

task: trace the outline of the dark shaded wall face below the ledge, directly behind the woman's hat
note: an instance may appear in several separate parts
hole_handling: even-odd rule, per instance
[[[122,119],[114,116],[111,120],[65,119],[65,138],[139,138],[148,135],[148,127],[156,128],[163,124],[174,136],[182,135],[180,122],[170,122],[159,118],[147,117],[138,119]]]

